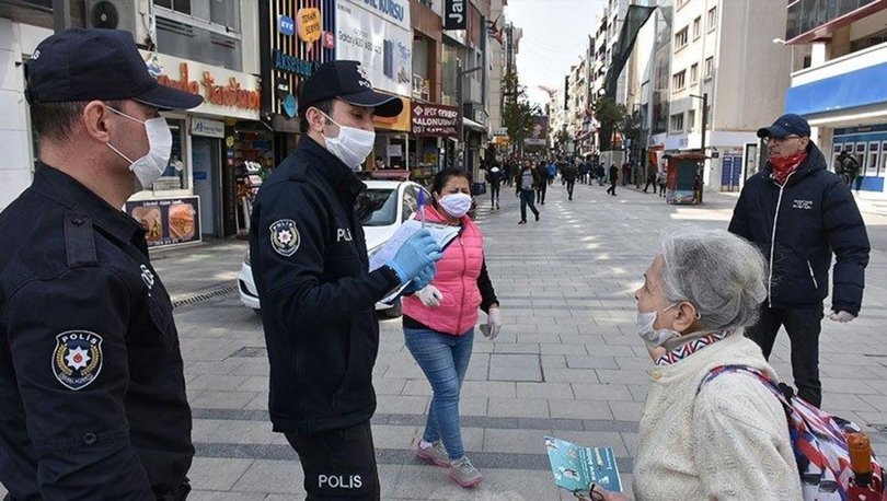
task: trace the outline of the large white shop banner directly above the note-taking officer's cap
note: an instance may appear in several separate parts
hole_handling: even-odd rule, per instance
[[[413,95],[413,34],[406,0],[336,2],[336,59],[360,61],[372,86]]]

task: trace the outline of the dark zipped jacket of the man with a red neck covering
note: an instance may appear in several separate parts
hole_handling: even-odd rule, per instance
[[[832,310],[857,315],[868,264],[865,223],[850,189],[826,170],[819,148],[810,143],[807,152],[785,186],[770,177],[769,163],[746,182],[729,231],[756,244],[768,258],[772,307],[821,304],[829,293],[834,253]]]

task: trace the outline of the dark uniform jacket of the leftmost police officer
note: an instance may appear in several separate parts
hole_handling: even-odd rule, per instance
[[[154,500],[194,447],[145,230],[38,164],[0,214],[0,481],[12,499]]]

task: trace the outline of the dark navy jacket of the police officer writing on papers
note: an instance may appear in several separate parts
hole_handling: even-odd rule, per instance
[[[275,431],[345,428],[376,410],[375,305],[399,281],[388,267],[368,271],[355,213],[365,187],[303,136],[258,191],[250,260],[270,362]]]

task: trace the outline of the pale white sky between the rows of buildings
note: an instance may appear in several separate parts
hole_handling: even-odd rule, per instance
[[[549,96],[538,85],[564,86],[564,75],[579,62],[606,4],[607,0],[508,0],[506,18],[523,30],[518,78],[540,108]]]

